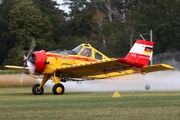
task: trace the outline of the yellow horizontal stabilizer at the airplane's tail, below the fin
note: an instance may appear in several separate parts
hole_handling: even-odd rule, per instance
[[[141,68],[141,72],[149,73],[149,72],[172,70],[172,69],[175,69],[175,68],[168,64],[156,64],[156,65],[145,66],[145,67]]]

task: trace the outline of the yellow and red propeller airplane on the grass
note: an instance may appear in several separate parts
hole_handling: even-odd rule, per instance
[[[23,66],[6,65],[5,67],[43,75],[40,84],[32,87],[34,95],[44,93],[43,86],[48,80],[54,82],[53,94],[62,95],[65,87],[61,82],[119,77],[135,73],[146,74],[174,69],[168,64],[148,65],[152,58],[153,46],[154,42],[137,39],[125,58],[109,58],[90,44],[85,43],[72,50],[58,49],[49,52],[40,50],[31,53],[35,47],[35,43],[32,42],[28,55],[24,57]],[[25,67],[26,65],[28,67]],[[145,88],[148,90],[150,86],[146,85]]]

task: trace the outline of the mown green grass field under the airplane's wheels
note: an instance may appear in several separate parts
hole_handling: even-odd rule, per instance
[[[0,118],[13,120],[176,120],[179,92],[80,92],[53,95],[45,88],[34,96],[31,87],[0,88]]]

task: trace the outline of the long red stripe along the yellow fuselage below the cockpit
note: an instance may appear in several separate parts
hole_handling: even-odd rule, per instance
[[[86,58],[86,57],[79,57],[77,55],[61,55],[61,54],[47,54],[47,57],[56,57],[56,58],[64,58],[64,59],[73,59],[73,60],[80,60],[85,62],[95,62],[97,60],[92,58]]]

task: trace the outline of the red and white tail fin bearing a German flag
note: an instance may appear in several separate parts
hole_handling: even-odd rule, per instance
[[[137,40],[125,59],[146,66],[149,63],[149,60],[151,60],[153,46],[154,42]]]

